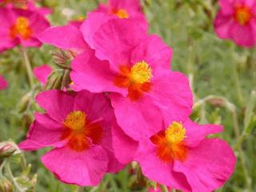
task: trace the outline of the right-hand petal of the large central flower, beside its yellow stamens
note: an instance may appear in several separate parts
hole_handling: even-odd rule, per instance
[[[179,72],[158,70],[153,75],[152,84],[150,98],[162,110],[167,123],[186,120],[193,105],[188,78]]]

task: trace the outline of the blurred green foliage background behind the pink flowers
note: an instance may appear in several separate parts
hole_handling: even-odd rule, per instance
[[[85,17],[98,2],[105,1],[48,0],[41,5],[53,9],[49,18],[54,26]],[[182,71],[190,78],[195,102],[192,118],[202,123],[222,123],[224,133],[217,136],[235,150],[236,170],[218,191],[256,191],[256,49],[235,46],[214,34],[217,1],[144,0],[142,6],[150,22],[150,33],[161,36],[174,50],[172,70]],[[51,46],[29,49],[32,65],[54,66],[52,50]],[[30,86],[17,48],[0,54],[0,74],[10,83],[9,89],[0,93],[0,141],[11,138],[20,142],[38,106],[30,100],[26,110],[21,109],[21,99],[26,100],[24,95],[30,92]],[[26,153],[27,162],[32,164],[31,172],[38,174],[36,191],[76,191],[75,186],[58,182],[42,166],[39,159],[45,152]],[[115,176],[106,175],[98,188],[86,191],[146,191],[146,183],[136,181],[128,166]]]

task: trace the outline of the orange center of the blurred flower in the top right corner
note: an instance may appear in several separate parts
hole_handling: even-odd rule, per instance
[[[253,17],[253,13],[247,6],[238,6],[234,10],[234,20],[241,26],[245,26]]]

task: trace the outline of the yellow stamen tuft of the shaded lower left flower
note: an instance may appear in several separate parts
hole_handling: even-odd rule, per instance
[[[64,125],[71,130],[83,130],[86,126],[86,113],[77,110],[66,116]]]

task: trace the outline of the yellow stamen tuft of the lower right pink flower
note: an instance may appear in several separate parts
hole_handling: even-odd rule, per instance
[[[179,122],[173,122],[166,130],[166,140],[170,143],[182,142],[186,138],[186,129]]]

